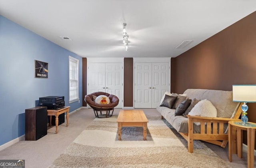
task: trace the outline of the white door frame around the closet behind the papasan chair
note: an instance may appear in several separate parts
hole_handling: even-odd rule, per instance
[[[88,70],[88,66],[90,63],[122,63],[122,108],[124,108],[124,58],[87,58],[87,70]],[[87,71],[88,73],[88,71]],[[88,74],[86,74],[86,78],[87,78],[87,83],[86,85],[88,86]],[[86,87],[86,93],[88,93],[88,87]],[[89,107],[88,104],[86,105],[86,107]]]

